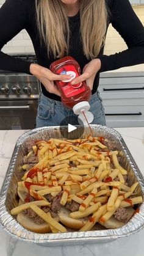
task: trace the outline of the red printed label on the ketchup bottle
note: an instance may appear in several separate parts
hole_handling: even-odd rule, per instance
[[[71,79],[69,80],[59,81],[59,85],[62,87],[63,93],[67,98],[73,97],[85,91],[85,87],[82,82],[79,84],[71,85],[71,81],[79,76],[76,68],[73,65],[66,65],[65,67],[59,68],[57,74],[71,76]]]

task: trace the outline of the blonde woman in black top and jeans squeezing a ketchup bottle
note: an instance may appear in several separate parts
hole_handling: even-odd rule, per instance
[[[119,32],[128,49],[103,55],[109,24]],[[64,108],[54,84],[68,79],[54,75],[49,65],[63,56],[79,62],[82,75],[72,83],[86,80],[92,89],[93,123],[105,125],[104,108],[97,92],[99,72],[144,63],[144,28],[128,0],[7,0],[0,10],[0,49],[21,29],[34,45],[38,64],[0,53],[0,69],[24,72],[41,82],[37,127],[60,125],[73,111]]]

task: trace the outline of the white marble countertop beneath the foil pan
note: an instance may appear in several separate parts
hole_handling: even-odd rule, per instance
[[[126,142],[137,166],[144,175],[144,128],[117,128]],[[9,166],[16,139],[24,133],[20,131],[0,131],[0,188]],[[13,239],[0,228],[1,256],[143,256],[144,229],[128,238],[120,238],[110,243],[84,244],[80,246],[44,247]]]

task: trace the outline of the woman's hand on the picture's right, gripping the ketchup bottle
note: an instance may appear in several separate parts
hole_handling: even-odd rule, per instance
[[[100,68],[101,68],[100,59],[91,60],[87,65],[85,65],[82,75],[76,79],[73,79],[73,81],[71,81],[71,84],[73,85],[73,84],[78,84],[79,82],[86,81],[87,86],[90,87],[90,90],[92,90],[96,73],[98,73]]]

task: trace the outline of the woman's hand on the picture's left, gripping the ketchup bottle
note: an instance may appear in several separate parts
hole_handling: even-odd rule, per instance
[[[54,84],[54,81],[59,80],[59,81],[65,81],[70,79],[70,76],[68,75],[56,75],[52,73],[51,70],[45,67],[41,67],[38,64],[31,64],[30,65],[30,73],[45,86],[46,90],[50,93],[54,93],[58,96],[60,95],[59,90],[57,89],[56,84]]]

